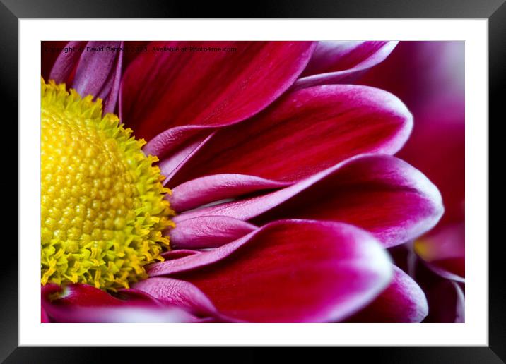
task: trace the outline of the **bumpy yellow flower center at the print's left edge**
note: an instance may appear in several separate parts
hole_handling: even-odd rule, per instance
[[[115,291],[163,260],[174,212],[146,142],[92,99],[42,80],[41,281]]]

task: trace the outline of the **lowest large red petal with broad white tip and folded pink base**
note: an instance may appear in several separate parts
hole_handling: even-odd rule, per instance
[[[389,283],[392,265],[375,238],[354,226],[285,220],[149,269],[151,276],[176,272],[186,272],[178,279],[197,286],[227,317],[324,322],[370,303]]]

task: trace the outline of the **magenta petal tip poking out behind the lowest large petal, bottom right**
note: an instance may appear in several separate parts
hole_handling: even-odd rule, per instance
[[[402,269],[394,266],[394,279],[366,308],[348,322],[422,322],[428,315],[425,293]]]

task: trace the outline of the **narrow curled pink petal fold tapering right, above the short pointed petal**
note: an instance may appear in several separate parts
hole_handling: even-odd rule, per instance
[[[225,198],[235,198],[257,190],[289,185],[290,183],[242,174],[214,174],[196,178],[172,188],[169,200],[170,206],[175,211],[182,212]]]

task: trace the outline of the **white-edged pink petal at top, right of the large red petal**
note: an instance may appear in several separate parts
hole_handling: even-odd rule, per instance
[[[295,87],[343,82],[384,61],[398,42],[319,42]]]

